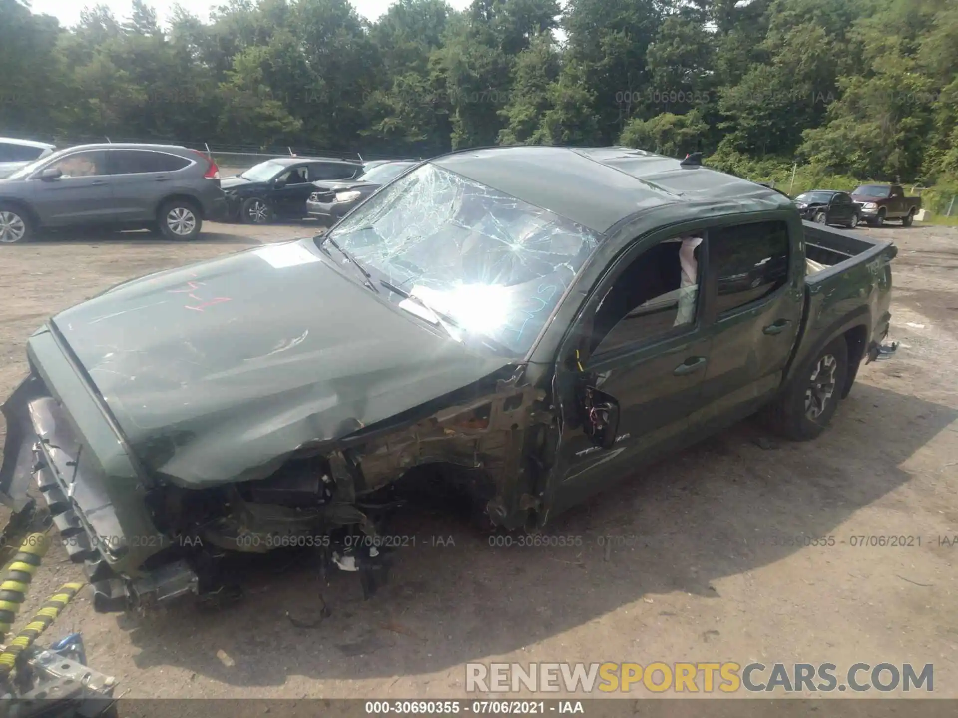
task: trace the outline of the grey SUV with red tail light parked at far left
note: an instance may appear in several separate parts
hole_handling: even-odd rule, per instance
[[[0,180],[0,243],[26,241],[41,227],[78,225],[194,239],[225,204],[216,163],[194,149],[81,145]]]

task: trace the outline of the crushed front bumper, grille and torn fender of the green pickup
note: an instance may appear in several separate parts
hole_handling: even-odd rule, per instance
[[[49,331],[34,335],[40,345],[51,338]],[[265,478],[201,488],[151,474],[102,404],[99,420],[87,413],[99,403],[95,392],[61,381],[62,393],[54,395],[42,374],[34,369],[3,406],[3,499],[16,510],[32,509],[26,489],[35,479],[70,558],[84,564],[100,612],[181,595],[215,599],[228,590],[221,565],[230,552],[289,546],[315,547],[324,566],[358,572],[369,597],[385,578],[388,556],[375,540],[359,537],[376,536],[399,505],[391,486],[414,467],[428,465],[467,489],[505,526],[522,521],[506,508],[515,492],[531,490],[524,475],[516,481],[506,473],[530,440],[518,427],[528,425],[540,398],[520,385],[521,367],[341,438],[300,446],[261,467],[269,471]],[[81,422],[67,409],[75,402]]]

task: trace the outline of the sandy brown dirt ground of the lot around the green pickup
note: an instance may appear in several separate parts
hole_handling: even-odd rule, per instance
[[[0,395],[58,310],[308,229],[211,224],[191,244],[126,233],[0,248]],[[901,348],[860,371],[814,442],[759,441],[762,427],[744,422],[561,517],[552,530],[581,548],[493,549],[455,515],[416,509],[405,530],[417,547],[369,602],[354,574],[321,586],[307,560],[281,555],[250,566],[228,610],[98,615],[84,597],[53,633],[81,630],[90,662],[129,697],[460,697],[468,661],[933,662],[935,694],[958,697],[958,546],[940,545],[958,535],[958,230],[860,232],[899,245]],[[873,534],[921,546],[852,545]],[[834,540],[782,540],[795,536]],[[27,609],[81,575],[57,548]],[[294,625],[320,595],[331,617]]]

